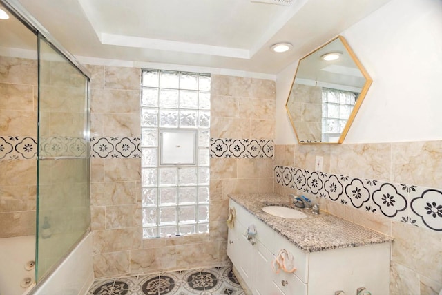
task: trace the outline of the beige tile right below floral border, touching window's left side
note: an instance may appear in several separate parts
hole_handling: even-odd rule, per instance
[[[110,159],[104,162],[104,181],[137,181],[141,178],[140,158]]]

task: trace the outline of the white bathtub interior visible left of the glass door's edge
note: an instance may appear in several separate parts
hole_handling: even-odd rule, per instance
[[[35,236],[0,238],[0,295],[28,294],[34,285],[32,263],[35,265]]]

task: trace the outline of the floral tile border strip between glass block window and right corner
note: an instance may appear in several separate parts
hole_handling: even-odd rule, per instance
[[[273,140],[211,138],[211,158],[273,158]]]

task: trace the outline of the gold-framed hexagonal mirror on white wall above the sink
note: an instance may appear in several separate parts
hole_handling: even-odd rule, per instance
[[[342,36],[302,57],[285,104],[298,142],[342,143],[371,84]]]

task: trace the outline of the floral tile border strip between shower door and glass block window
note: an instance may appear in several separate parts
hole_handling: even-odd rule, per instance
[[[91,158],[141,158],[140,137],[92,137]]]

